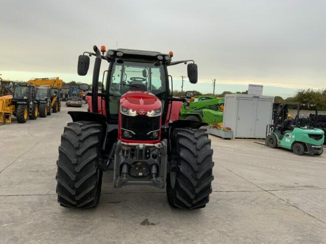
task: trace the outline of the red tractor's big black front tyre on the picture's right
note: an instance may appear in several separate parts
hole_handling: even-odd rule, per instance
[[[212,192],[213,150],[205,130],[180,128],[173,132],[171,166],[167,176],[167,195],[171,206],[202,208]]]

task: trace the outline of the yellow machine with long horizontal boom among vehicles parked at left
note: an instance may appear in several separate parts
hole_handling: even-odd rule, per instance
[[[50,115],[51,112],[56,113],[61,110],[61,88],[63,85],[63,81],[59,77],[54,78],[32,78],[31,80],[27,81],[26,83],[33,84],[36,87],[50,87],[51,89],[51,96],[50,96],[50,104],[47,108],[47,115]],[[42,103],[38,101],[39,97],[38,93],[41,93],[41,90],[37,92],[36,101],[38,103]],[[39,105],[40,107],[40,105]],[[42,107],[42,106],[41,106]],[[51,111],[52,110],[52,111]],[[41,110],[40,110],[41,113]]]

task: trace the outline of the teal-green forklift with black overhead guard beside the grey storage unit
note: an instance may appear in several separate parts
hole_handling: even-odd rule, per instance
[[[318,117],[318,107],[315,104],[285,103],[273,111],[273,124],[266,127],[267,146],[290,149],[299,156],[304,153],[322,155],[324,132],[316,129],[316,120],[311,123],[308,118],[300,118],[302,107],[315,108]],[[295,118],[289,114],[289,108],[296,110]]]

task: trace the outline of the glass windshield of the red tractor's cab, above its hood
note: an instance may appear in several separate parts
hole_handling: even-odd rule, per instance
[[[167,90],[164,66],[156,65],[119,59],[113,64],[109,94],[120,97],[129,90],[144,90],[164,98]]]

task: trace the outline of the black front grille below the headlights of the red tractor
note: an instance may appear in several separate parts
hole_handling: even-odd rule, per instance
[[[150,132],[159,132],[161,116],[148,117],[146,115],[128,116],[121,114],[121,137],[127,140],[157,140]],[[129,136],[124,135],[129,131]],[[159,133],[157,133],[159,135]]]

